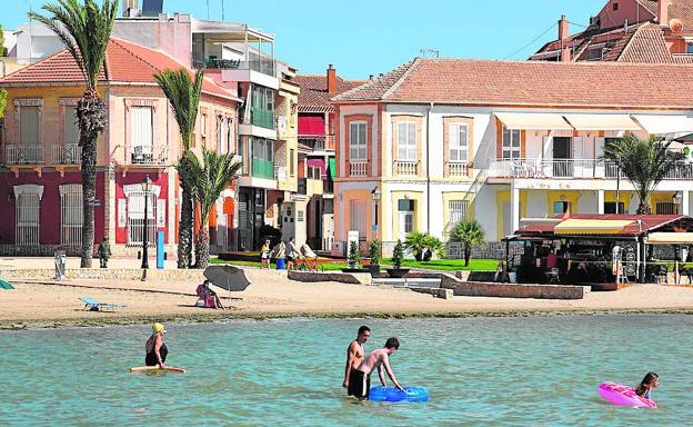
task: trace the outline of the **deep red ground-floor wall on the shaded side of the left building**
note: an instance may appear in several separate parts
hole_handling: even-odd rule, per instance
[[[100,206],[94,207],[94,242],[103,239],[104,232],[104,191],[103,172],[97,172],[97,198]],[[66,172],[61,177],[58,172],[43,172],[39,178],[38,173],[0,173],[0,242],[14,244],[16,226],[16,200],[13,186],[22,183],[36,183],[43,186],[43,197],[40,206],[40,230],[39,242],[43,245],[60,245],[60,189],[59,186],[66,183],[81,183],[80,172]]]

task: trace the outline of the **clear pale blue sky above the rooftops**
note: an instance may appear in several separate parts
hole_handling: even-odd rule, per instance
[[[100,0],[97,0],[100,1]],[[121,0],[119,0],[121,2]],[[222,0],[207,0],[222,19]],[[163,0],[165,12],[208,17],[205,0]],[[277,57],[301,73],[333,63],[348,79],[388,72],[422,49],[440,57],[526,59],[554,40],[566,14],[583,30],[606,0],[223,0],[223,18],[275,36]],[[28,22],[30,0],[2,0],[6,30]],[[43,0],[31,0],[33,9]],[[120,16],[120,13],[119,13]],[[430,54],[430,53],[428,53]]]

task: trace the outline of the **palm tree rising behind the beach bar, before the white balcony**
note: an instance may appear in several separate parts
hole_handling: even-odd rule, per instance
[[[604,158],[613,161],[635,187],[640,199],[637,215],[652,214],[650,195],[681,157],[667,152],[670,143],[655,136],[644,140],[629,135],[604,148]]]

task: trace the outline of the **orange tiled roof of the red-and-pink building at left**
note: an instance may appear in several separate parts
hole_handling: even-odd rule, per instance
[[[192,76],[190,68],[163,52],[124,40],[111,39],[99,80],[102,83],[155,83],[153,77],[155,73],[180,68],[185,68]],[[0,86],[81,83],[83,80],[82,72],[72,56],[67,50],[61,50],[0,79]],[[235,98],[233,92],[221,88],[210,78],[204,78],[202,90],[220,97]]]

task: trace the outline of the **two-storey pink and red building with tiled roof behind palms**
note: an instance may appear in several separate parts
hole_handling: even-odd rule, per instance
[[[152,245],[155,232],[163,231],[167,252],[175,254],[174,165],[181,147],[175,119],[153,76],[181,67],[190,69],[158,50],[120,39],[109,43],[99,89],[108,106],[108,129],[98,141],[94,215],[96,244],[109,237],[117,254],[137,252],[145,230]],[[7,76],[0,87],[9,95],[1,145],[0,200],[7,217],[0,224],[0,252],[51,255],[61,248],[77,254],[82,190],[74,115],[84,90],[82,75],[63,50]],[[193,150],[235,152],[235,93],[207,78],[202,90]],[[144,195],[141,181],[148,176],[154,187]],[[232,191],[224,196],[231,200]],[[220,199],[215,222],[233,222],[229,200]],[[227,227],[217,227],[212,242],[227,245],[228,236]]]

